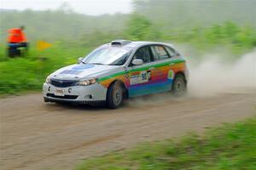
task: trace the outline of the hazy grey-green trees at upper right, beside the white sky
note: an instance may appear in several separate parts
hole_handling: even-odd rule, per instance
[[[162,29],[212,26],[231,20],[238,26],[256,26],[254,0],[135,0],[134,10]],[[246,12],[245,12],[246,11]]]

